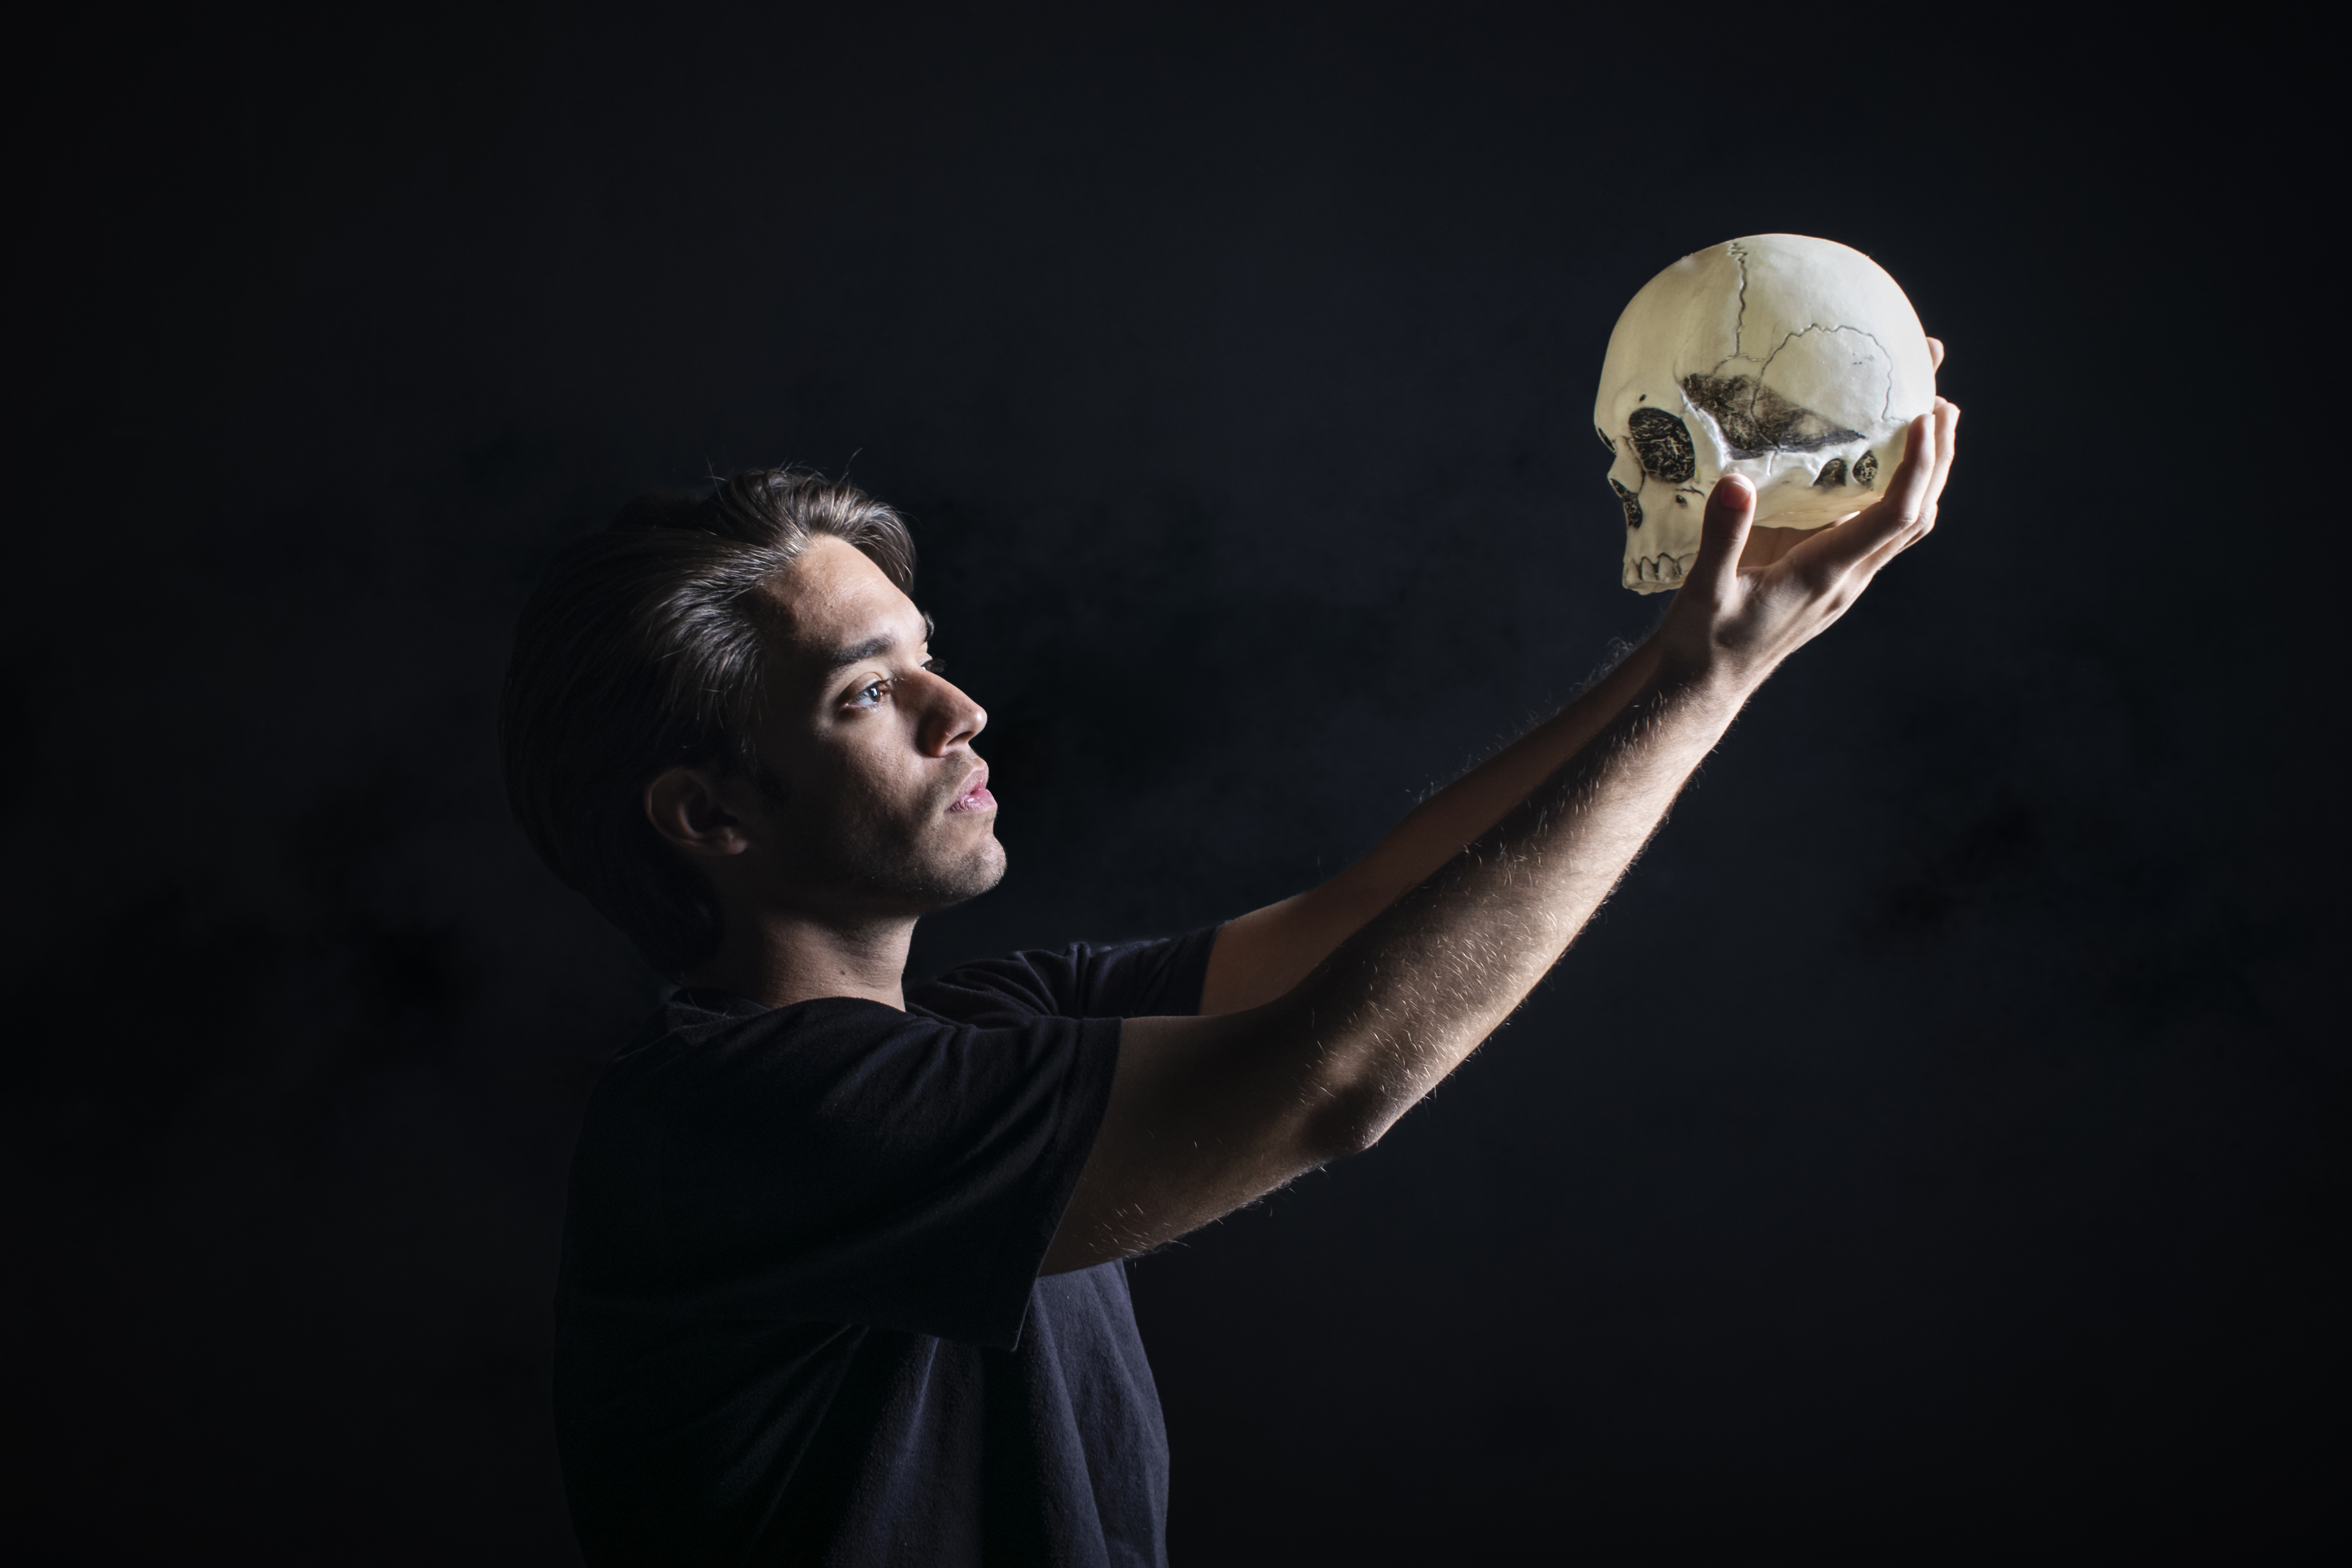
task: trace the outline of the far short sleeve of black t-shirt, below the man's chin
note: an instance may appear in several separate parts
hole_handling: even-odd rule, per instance
[[[1221,926],[1148,943],[1014,952],[950,969],[908,994],[957,1023],[990,1025],[1018,1018],[1167,1018],[1200,1011],[1209,952]]]

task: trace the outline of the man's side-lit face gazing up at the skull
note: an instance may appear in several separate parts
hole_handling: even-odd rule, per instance
[[[790,628],[769,663],[760,762],[774,893],[847,917],[910,917],[1004,877],[988,715],[931,661],[929,623],[854,545],[816,536],[767,588]]]

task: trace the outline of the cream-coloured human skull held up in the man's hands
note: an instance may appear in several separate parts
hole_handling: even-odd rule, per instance
[[[1625,306],[1592,404],[1625,508],[1625,588],[1682,583],[1726,473],[1755,484],[1757,527],[1820,529],[1870,505],[1933,404],[1919,315],[1858,249],[1752,235],[1684,256]]]

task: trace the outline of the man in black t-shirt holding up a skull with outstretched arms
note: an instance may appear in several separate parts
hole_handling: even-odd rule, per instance
[[[548,865],[682,990],[572,1173],[557,1429],[590,1563],[1162,1563],[1124,1262],[1378,1143],[1559,959],[1748,696],[1936,520],[1750,538],[1364,860],[1192,936],[901,987],[1004,875],[901,520],[774,470],[550,564],[501,741]]]

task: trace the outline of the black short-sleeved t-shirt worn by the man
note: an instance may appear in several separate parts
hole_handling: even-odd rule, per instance
[[[1037,1276],[1120,1018],[1214,931],[762,1009],[682,990],[572,1157],[555,1422],[609,1563],[1164,1563],[1167,1432],[1117,1262]]]

